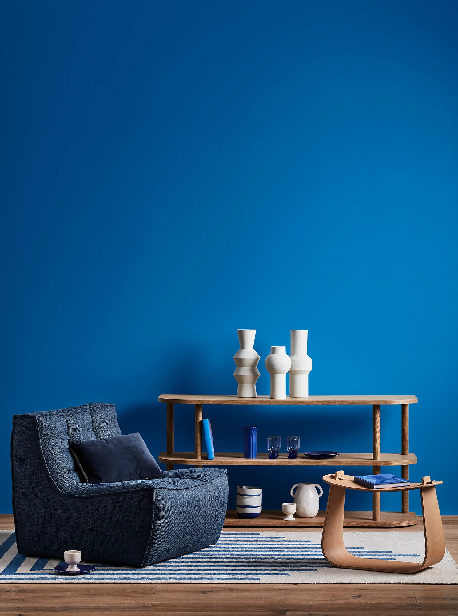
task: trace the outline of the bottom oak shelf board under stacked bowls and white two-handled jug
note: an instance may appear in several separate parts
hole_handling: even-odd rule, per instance
[[[233,510],[226,512],[224,521],[225,527],[228,526],[244,526],[244,527],[260,527],[260,526],[276,526],[281,528],[299,527],[313,528],[323,527],[325,511],[318,511],[315,517],[296,517],[294,522],[283,520],[284,513],[281,511],[262,511],[260,516],[244,519],[238,517]],[[413,526],[417,524],[417,516],[414,511],[409,513],[398,513],[398,511],[382,511],[380,512],[380,520],[372,520],[372,511],[345,511],[344,527],[359,527],[382,529],[388,527]]]

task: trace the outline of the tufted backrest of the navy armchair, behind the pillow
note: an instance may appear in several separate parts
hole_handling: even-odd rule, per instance
[[[30,418],[34,418],[34,422]],[[15,437],[16,426],[19,429]],[[115,405],[98,402],[56,411],[15,415],[11,443],[13,458],[18,449],[22,448],[20,441],[21,435],[25,436],[24,432],[27,440],[38,440],[50,477],[60,490],[81,482],[68,448],[69,439],[95,440],[121,434]]]

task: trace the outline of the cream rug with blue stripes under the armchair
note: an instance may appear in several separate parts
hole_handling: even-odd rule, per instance
[[[356,556],[411,562],[424,556],[422,532],[347,532],[344,540]],[[439,564],[413,575],[337,569],[324,559],[316,531],[223,532],[214,546],[143,569],[96,564],[90,573],[70,576],[56,573],[58,564],[64,561],[18,554],[14,531],[0,531],[2,583],[458,583],[448,552]]]

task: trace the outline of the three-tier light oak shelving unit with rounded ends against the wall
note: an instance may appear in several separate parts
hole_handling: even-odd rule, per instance
[[[267,395],[257,398],[237,398],[235,395],[184,395],[161,394],[159,402],[167,404],[167,452],[159,455],[159,461],[167,465],[167,470],[174,468],[174,464],[187,466],[372,466],[374,474],[380,473],[381,466],[401,466],[401,475],[409,479],[409,465],[416,464],[417,457],[409,453],[409,404],[415,404],[414,395],[310,395],[307,398],[289,398],[274,400]],[[192,404],[195,406],[195,450],[194,452],[175,452],[174,450],[174,405]],[[299,456],[296,460],[288,460],[286,453],[280,454],[277,460],[269,460],[268,453],[258,453],[257,458],[244,458],[241,452],[217,453],[213,460],[208,460],[202,452],[202,407],[209,405],[372,405],[372,453],[340,453],[331,460],[311,460]],[[380,406],[401,405],[401,453],[380,452]],[[401,513],[396,511],[380,512],[380,493],[372,494],[372,512],[348,511],[345,512],[345,526],[366,527],[398,527],[416,524],[416,514],[409,511],[409,492],[401,492]],[[228,511],[225,522],[227,526],[273,525],[286,526],[291,522],[278,519],[279,512],[263,512],[253,520],[241,519],[234,512]],[[324,516],[324,512],[323,512]],[[316,527],[323,525],[323,516],[318,514],[315,518],[302,518],[296,525]],[[265,519],[269,524],[260,523]],[[271,522],[274,522],[271,524]],[[281,523],[283,522],[283,524]],[[318,524],[318,522],[321,522]]]

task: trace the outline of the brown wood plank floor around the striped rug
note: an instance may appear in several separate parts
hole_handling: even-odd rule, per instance
[[[458,561],[458,516],[442,516],[446,546]],[[12,529],[0,516],[0,529]],[[238,527],[231,532],[247,529]],[[276,530],[278,529],[249,529]],[[291,529],[292,530],[292,529]],[[304,530],[304,529],[297,529]],[[373,529],[345,529],[370,532]],[[422,522],[404,529],[416,532]],[[1,584],[6,616],[428,616],[458,615],[458,585],[431,584]]]

